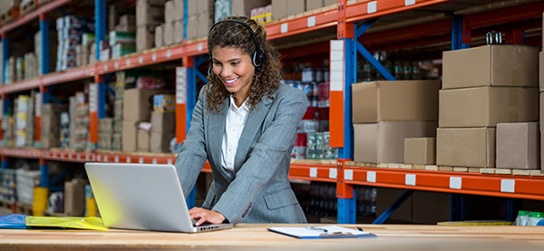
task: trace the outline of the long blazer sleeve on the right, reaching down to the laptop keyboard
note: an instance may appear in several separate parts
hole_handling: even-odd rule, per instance
[[[244,212],[262,191],[277,169],[281,159],[290,155],[289,150],[296,138],[296,128],[307,108],[306,94],[290,89],[281,97],[273,121],[257,140],[249,157],[238,170],[236,178],[228,185],[212,210],[218,211],[232,224],[242,221]]]

